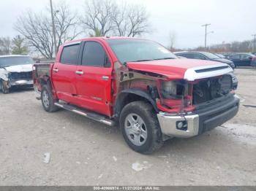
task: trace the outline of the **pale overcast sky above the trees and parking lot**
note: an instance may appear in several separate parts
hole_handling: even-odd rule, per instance
[[[85,0],[66,1],[72,9],[82,12]],[[208,30],[214,31],[208,36],[208,44],[252,39],[252,34],[256,34],[256,0],[127,1],[147,7],[152,32],[143,37],[164,45],[168,45],[170,31],[176,34],[174,47],[203,45],[205,23],[211,23]],[[48,5],[49,0],[0,0],[0,36],[15,36],[18,33],[13,24],[18,15],[27,9],[40,12]]]

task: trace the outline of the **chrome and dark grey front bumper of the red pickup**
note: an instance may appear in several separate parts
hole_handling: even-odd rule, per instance
[[[170,115],[159,112],[157,114],[162,133],[167,136],[188,138],[222,125],[233,118],[239,108],[239,98],[228,95],[226,98],[214,103],[199,106],[196,112],[185,115]],[[178,122],[184,122],[186,128],[179,130]]]

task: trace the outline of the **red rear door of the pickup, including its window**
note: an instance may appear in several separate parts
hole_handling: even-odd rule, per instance
[[[64,46],[61,58],[54,63],[52,71],[53,86],[58,98],[74,104],[74,96],[77,94],[75,89],[75,71],[78,64],[79,47],[80,43]]]

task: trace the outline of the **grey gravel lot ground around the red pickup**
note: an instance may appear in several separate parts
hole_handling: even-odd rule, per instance
[[[0,185],[256,185],[256,69],[236,74],[237,117],[153,155],[129,149],[118,128],[45,112],[32,90],[1,94]]]

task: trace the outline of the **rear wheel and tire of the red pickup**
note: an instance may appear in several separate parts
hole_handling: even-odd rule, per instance
[[[51,93],[48,85],[44,85],[42,87],[41,101],[46,112],[56,112],[59,109],[56,105],[54,105],[56,100],[53,98],[53,94]]]

